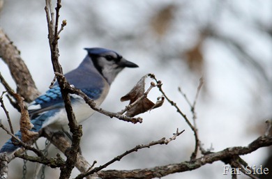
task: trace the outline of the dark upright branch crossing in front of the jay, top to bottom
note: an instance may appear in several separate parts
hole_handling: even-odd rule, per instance
[[[48,38],[50,42],[50,52],[51,52],[51,61],[53,65],[54,72],[58,72],[61,75],[63,74],[61,64],[59,63],[59,33],[62,31],[64,24],[62,25],[62,29],[58,31],[59,27],[59,10],[61,9],[61,0],[56,1],[56,17],[52,15],[52,6],[50,6],[51,1],[46,0],[45,12],[47,15],[47,26],[48,26]],[[49,7],[48,7],[49,6]],[[51,12],[51,20],[49,16],[49,9]],[[55,21],[55,23],[54,23]],[[75,114],[73,112],[73,108],[71,105],[69,91],[66,89],[66,81],[65,77],[56,77],[59,83],[59,87],[61,88],[61,96],[63,98],[64,107],[66,109],[67,117],[68,117],[68,126],[70,128],[70,132],[72,133],[72,145],[70,150],[67,151],[66,157],[66,166],[61,167],[61,173],[59,178],[69,178],[70,173],[75,167],[75,163],[77,162],[77,153],[80,149],[80,139],[82,137],[82,125],[77,124],[77,120],[75,119]]]

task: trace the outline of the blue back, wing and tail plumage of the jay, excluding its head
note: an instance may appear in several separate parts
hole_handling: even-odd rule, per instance
[[[87,63],[89,59],[85,58],[84,61]],[[93,68],[94,67],[91,65],[86,68],[77,68],[76,70],[68,72],[68,74],[66,74],[66,79],[70,84],[73,84],[75,88],[80,88],[82,92],[89,96],[89,98],[97,100],[100,98],[103,90],[105,90],[105,79],[103,79],[96,70],[93,70]],[[80,97],[77,98],[75,95],[71,95],[70,97],[72,103],[82,100]],[[63,107],[64,103],[61,96],[61,89],[57,84],[55,84],[53,88],[46,91],[44,95],[40,95],[29,105],[29,115],[31,116],[31,123],[34,125],[32,131],[38,132],[42,127],[44,127],[47,121],[51,120],[50,117],[55,116]],[[22,139],[20,131],[15,135],[19,139]],[[10,153],[17,148],[20,148],[20,146],[15,146],[9,139],[1,148],[0,153]]]

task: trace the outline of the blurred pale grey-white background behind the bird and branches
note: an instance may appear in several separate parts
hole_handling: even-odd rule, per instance
[[[20,49],[40,92],[50,86],[54,74],[47,40],[45,1],[3,1],[0,26]],[[53,3],[55,4],[55,3]],[[112,84],[102,107],[120,111],[128,103],[120,98],[147,73],[163,81],[170,99],[192,119],[190,107],[178,87],[192,102],[199,78],[204,86],[197,101],[197,127],[204,148],[219,151],[246,146],[266,129],[272,118],[272,1],[62,1],[60,20],[67,20],[59,40],[60,63],[68,72],[82,61],[84,47],[114,49],[137,69],[125,69]],[[0,61],[1,74],[16,88],[10,72]],[[150,80],[146,81],[149,86]],[[4,91],[0,85],[0,91]],[[149,99],[161,94],[153,89]],[[19,114],[4,98],[15,129]],[[139,150],[107,169],[143,169],[190,159],[193,133],[174,107],[163,107],[139,115],[142,124],[133,125],[102,114],[94,114],[83,125],[82,153],[92,163],[104,164],[116,155],[142,143],[172,137],[185,130],[167,146]],[[8,126],[3,110],[2,122]],[[0,146],[9,139],[0,130]],[[44,146],[44,140],[40,140]],[[50,155],[55,156],[54,146]],[[249,165],[268,162],[270,148],[242,156]],[[9,178],[22,178],[22,159],[9,166]],[[175,173],[165,178],[231,178],[224,176],[222,162],[207,164],[195,171]],[[29,177],[35,164],[28,162]],[[272,166],[269,168],[272,173]],[[77,176],[77,169],[73,176]],[[46,178],[57,178],[58,169],[45,170]],[[272,178],[261,176],[261,178]],[[239,178],[247,178],[239,176]]]

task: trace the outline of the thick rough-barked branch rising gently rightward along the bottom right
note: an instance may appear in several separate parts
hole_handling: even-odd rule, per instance
[[[179,164],[167,164],[164,166],[155,166],[148,169],[135,169],[135,170],[107,170],[98,171],[98,176],[103,179],[107,178],[161,178],[172,173],[179,173],[183,171],[192,171],[198,169],[205,164],[212,164],[216,161],[228,161],[239,155],[246,155],[254,152],[258,148],[271,146],[272,137],[259,137],[252,141],[246,147],[232,147],[221,150],[217,153],[210,153],[199,157],[194,161],[181,162]]]

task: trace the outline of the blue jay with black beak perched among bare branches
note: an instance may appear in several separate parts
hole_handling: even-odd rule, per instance
[[[103,48],[85,48],[88,54],[80,65],[65,77],[75,88],[80,88],[89,98],[100,105],[109,92],[109,86],[123,68],[136,68],[138,65],[127,61],[116,52]],[[82,123],[93,113],[93,109],[77,95],[70,95],[73,111],[78,123]],[[49,126],[54,130],[68,127],[68,119],[61,91],[57,83],[53,88],[40,95],[29,104],[29,116],[34,125],[32,131],[38,132]],[[15,134],[22,139],[21,132]],[[1,148],[0,153],[12,153],[20,146],[15,146],[9,139]]]

